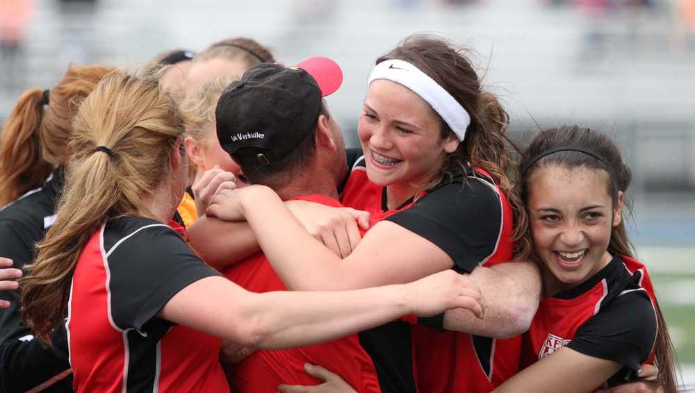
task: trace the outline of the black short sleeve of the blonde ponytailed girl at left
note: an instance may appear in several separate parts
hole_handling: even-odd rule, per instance
[[[108,256],[111,312],[119,328],[142,326],[184,287],[219,273],[195,256],[188,244],[165,226],[133,235]]]

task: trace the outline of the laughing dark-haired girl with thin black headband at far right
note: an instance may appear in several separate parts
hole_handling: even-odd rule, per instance
[[[630,169],[619,149],[588,128],[554,128],[532,140],[521,168],[525,253],[541,263],[543,300],[524,340],[532,365],[498,391],[591,392],[655,358],[658,382],[676,392],[669,333],[623,223]]]

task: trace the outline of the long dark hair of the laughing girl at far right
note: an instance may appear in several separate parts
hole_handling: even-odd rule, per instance
[[[556,151],[535,160],[543,153],[564,147],[576,147],[586,152]],[[536,135],[521,155],[521,199],[524,203],[528,203],[530,179],[533,173],[548,165],[559,165],[566,169],[586,167],[607,172],[609,176],[606,187],[608,194],[612,196],[614,206],[618,201],[618,193],[622,191],[623,195],[626,195],[632,181],[630,168],[625,165],[620,149],[608,135],[579,126],[550,128]],[[629,202],[629,199],[623,196],[623,216],[630,214]],[[534,258],[529,226],[523,228],[523,231],[526,235],[519,248],[519,256],[526,259]],[[613,255],[632,257],[634,254],[632,250],[623,219],[619,225],[612,227],[608,252]],[[659,324],[655,344],[655,365],[659,368],[659,383],[667,392],[677,392],[676,352],[673,350],[673,343],[659,303],[657,299],[653,301]]]

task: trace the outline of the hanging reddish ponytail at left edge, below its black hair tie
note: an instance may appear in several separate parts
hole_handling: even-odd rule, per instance
[[[27,90],[0,135],[0,207],[38,187],[51,172],[41,149],[42,90]]]

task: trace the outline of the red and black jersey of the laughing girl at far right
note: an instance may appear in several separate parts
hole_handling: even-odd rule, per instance
[[[653,357],[656,334],[646,269],[632,258],[616,256],[584,283],[541,301],[524,334],[523,363],[567,346],[623,365],[604,385],[612,387],[637,378],[637,368]]]

